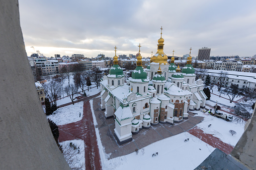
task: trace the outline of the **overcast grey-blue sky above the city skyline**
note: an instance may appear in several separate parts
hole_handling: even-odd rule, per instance
[[[20,0],[20,19],[27,55],[39,50],[86,57],[157,51],[164,39],[166,55],[197,56],[211,48],[211,56],[256,54],[256,1],[85,1]],[[31,46],[34,47],[31,48]]]

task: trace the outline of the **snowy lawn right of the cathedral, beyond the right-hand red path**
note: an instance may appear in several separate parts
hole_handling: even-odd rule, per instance
[[[197,124],[205,133],[212,134],[215,137],[218,137],[225,143],[228,143],[232,146],[235,146],[242,133],[244,131],[244,123],[236,123],[234,121],[225,121],[224,119],[217,118],[208,113],[204,113],[201,111],[191,111],[193,113],[197,113],[197,116],[204,117],[204,120]],[[208,125],[211,124],[210,127]],[[229,133],[229,130],[236,131],[236,134],[233,136]]]

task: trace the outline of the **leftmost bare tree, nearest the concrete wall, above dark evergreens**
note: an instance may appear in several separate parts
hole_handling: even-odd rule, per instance
[[[61,94],[60,82],[56,79],[52,79],[49,83],[43,84],[45,94],[57,106],[57,99]]]

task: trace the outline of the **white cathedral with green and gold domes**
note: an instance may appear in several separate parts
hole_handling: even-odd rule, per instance
[[[158,123],[173,125],[187,119],[189,110],[205,107],[204,82],[195,80],[192,57],[188,57],[181,71],[175,66],[174,57],[167,63],[163,42],[161,37],[146,69],[142,68],[139,50],[137,67],[126,83],[115,54],[109,75],[101,81],[101,109],[105,110],[106,118],[114,117],[114,135],[119,144],[131,141],[132,135],[142,128]]]

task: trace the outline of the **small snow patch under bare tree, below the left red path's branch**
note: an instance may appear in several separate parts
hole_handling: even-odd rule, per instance
[[[70,142],[72,142],[75,148],[70,147]],[[84,142],[83,140],[66,140],[59,143],[62,145],[63,154],[67,160],[69,166],[72,167],[81,167],[80,169],[86,169],[86,159],[84,157]],[[79,147],[79,148],[78,148]]]

